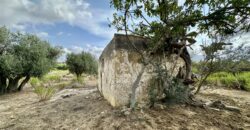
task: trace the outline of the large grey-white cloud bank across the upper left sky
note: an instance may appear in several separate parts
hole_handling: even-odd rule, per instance
[[[98,36],[112,37],[114,31],[103,25],[112,12],[90,6],[85,0],[1,0],[0,25],[68,23]]]

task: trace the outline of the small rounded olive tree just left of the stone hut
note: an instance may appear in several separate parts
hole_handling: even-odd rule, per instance
[[[97,61],[95,57],[88,52],[68,54],[66,64],[68,65],[69,71],[76,74],[78,79],[83,73],[97,73]]]

